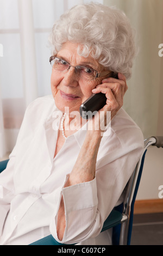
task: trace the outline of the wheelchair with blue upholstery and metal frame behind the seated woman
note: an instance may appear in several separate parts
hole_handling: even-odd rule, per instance
[[[112,228],[112,245],[130,245],[133,227],[134,203],[139,189],[146,152],[151,145],[163,148],[163,136],[153,136],[145,139],[144,149],[140,160],[137,162],[133,174],[124,189],[125,196],[123,203],[111,211],[103,224],[101,232]],[[8,161],[9,160],[0,162],[0,173],[6,168]],[[31,243],[30,245],[64,246],[65,244],[59,243],[52,235],[48,235],[43,239]]]

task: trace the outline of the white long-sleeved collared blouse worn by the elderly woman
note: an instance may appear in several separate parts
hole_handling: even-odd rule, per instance
[[[0,174],[0,245],[29,245],[49,234],[59,241],[61,196],[66,229],[59,242],[111,244],[111,230],[100,232],[111,210],[122,202],[123,189],[142,153],[142,132],[121,108],[102,138],[96,178],[64,188],[86,130],[69,136],[54,157],[61,117],[56,111],[52,95],[36,99],[26,110],[7,169]]]

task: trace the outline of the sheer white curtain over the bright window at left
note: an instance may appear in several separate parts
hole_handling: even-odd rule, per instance
[[[54,21],[73,5],[89,2],[0,0],[0,158],[13,149],[27,105],[51,94],[47,42]]]

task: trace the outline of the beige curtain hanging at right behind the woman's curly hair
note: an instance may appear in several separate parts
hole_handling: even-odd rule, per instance
[[[144,137],[163,135],[162,0],[104,0],[126,13],[136,31],[139,54],[128,81],[124,108],[141,127]]]

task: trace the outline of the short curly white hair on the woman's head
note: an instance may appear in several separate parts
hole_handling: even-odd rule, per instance
[[[116,7],[90,3],[67,10],[49,36],[52,54],[56,55],[66,41],[79,44],[80,56],[91,54],[106,69],[131,77],[137,52],[135,32],[126,14]]]

